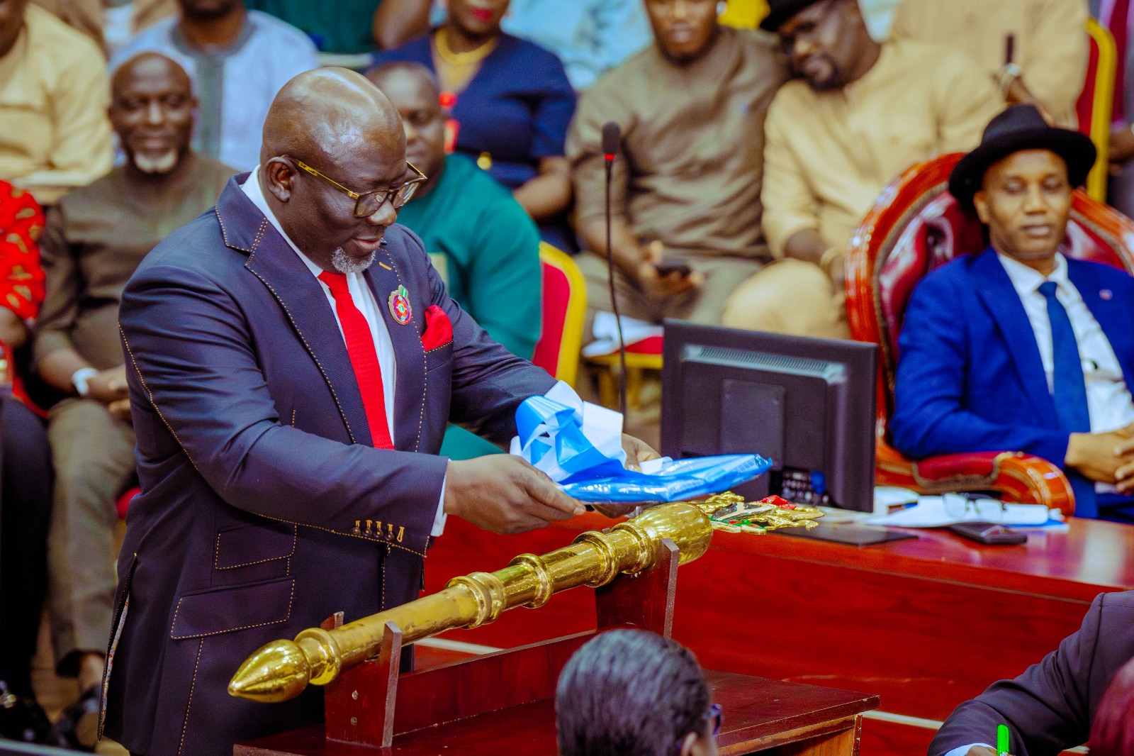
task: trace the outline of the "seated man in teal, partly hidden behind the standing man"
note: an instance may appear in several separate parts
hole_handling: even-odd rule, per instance
[[[398,210],[457,301],[509,352],[532,359],[540,337],[540,233],[503,186],[462,154],[445,154],[437,79],[415,62],[370,72],[401,115],[406,160],[429,176]],[[450,426],[441,455],[467,460],[500,450]]]

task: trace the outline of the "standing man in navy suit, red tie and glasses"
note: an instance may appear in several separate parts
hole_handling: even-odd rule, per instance
[[[450,420],[506,444],[556,381],[492,342],[393,225],[421,180],[373,84],[301,74],[257,169],[127,285],[142,493],[103,711],[133,754],[220,756],[321,721],[316,687],[264,705],[228,681],[266,641],[415,598],[447,514],[518,532],[583,511],[516,456],[437,455]]]

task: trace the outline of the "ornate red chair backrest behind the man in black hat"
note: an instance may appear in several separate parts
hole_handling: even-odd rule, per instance
[[[948,192],[960,154],[906,170],[887,186],[847,250],[847,316],[857,341],[879,344],[879,415],[892,411],[898,334],[906,304],[925,274],[985,247],[984,229]],[[1134,221],[1076,190],[1064,254],[1134,275]]]

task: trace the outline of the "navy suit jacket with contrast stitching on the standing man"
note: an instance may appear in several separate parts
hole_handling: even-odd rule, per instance
[[[228,681],[264,642],[416,598],[446,423],[506,444],[518,404],[555,384],[492,342],[392,226],[366,278],[397,360],[397,448],[374,450],[331,306],[243,180],[158,245],[121,302],[142,494],[118,563],[105,732],[151,756],[231,754],[321,721],[318,688],[265,705]],[[386,308],[399,285],[407,325]],[[454,339],[426,352],[431,304]]]

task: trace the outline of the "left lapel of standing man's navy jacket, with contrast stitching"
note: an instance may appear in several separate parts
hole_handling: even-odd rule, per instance
[[[244,267],[263,282],[280,303],[323,373],[350,440],[370,445],[362,394],[327,295],[303,260],[244,194],[238,185],[242,179],[237,176],[229,182],[217,203],[225,243],[248,254]]]

